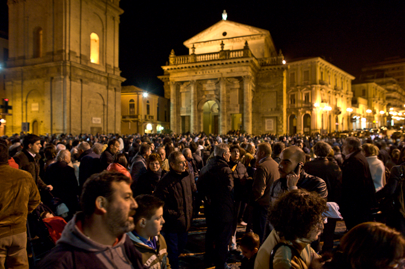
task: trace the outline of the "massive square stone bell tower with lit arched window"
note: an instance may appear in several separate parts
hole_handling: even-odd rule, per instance
[[[9,6],[8,135],[118,133],[119,0],[14,0]]]

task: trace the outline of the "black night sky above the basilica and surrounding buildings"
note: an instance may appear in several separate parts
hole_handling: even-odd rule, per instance
[[[0,30],[7,31],[7,1],[1,0]],[[121,0],[123,85],[163,94],[163,75],[171,49],[188,54],[183,42],[221,20],[270,31],[287,62],[323,57],[358,76],[361,67],[405,57],[404,1],[140,1]]]

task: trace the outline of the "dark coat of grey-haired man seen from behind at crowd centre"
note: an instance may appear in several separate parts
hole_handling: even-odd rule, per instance
[[[211,217],[220,222],[232,221],[235,213],[233,172],[223,157],[215,156],[201,169],[198,192],[207,198],[205,207],[212,208]]]

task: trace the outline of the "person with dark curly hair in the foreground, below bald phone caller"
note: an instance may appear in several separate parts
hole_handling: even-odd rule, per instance
[[[310,243],[318,239],[327,210],[326,200],[314,192],[298,189],[279,197],[269,217],[274,230],[257,253],[255,269],[319,267],[320,256]]]

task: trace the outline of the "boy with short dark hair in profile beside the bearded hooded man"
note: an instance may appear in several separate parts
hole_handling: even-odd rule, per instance
[[[170,269],[165,238],[160,230],[165,223],[165,203],[156,196],[141,194],[135,197],[138,208],[134,215],[135,230],[128,235],[142,254],[142,262],[150,269]]]

